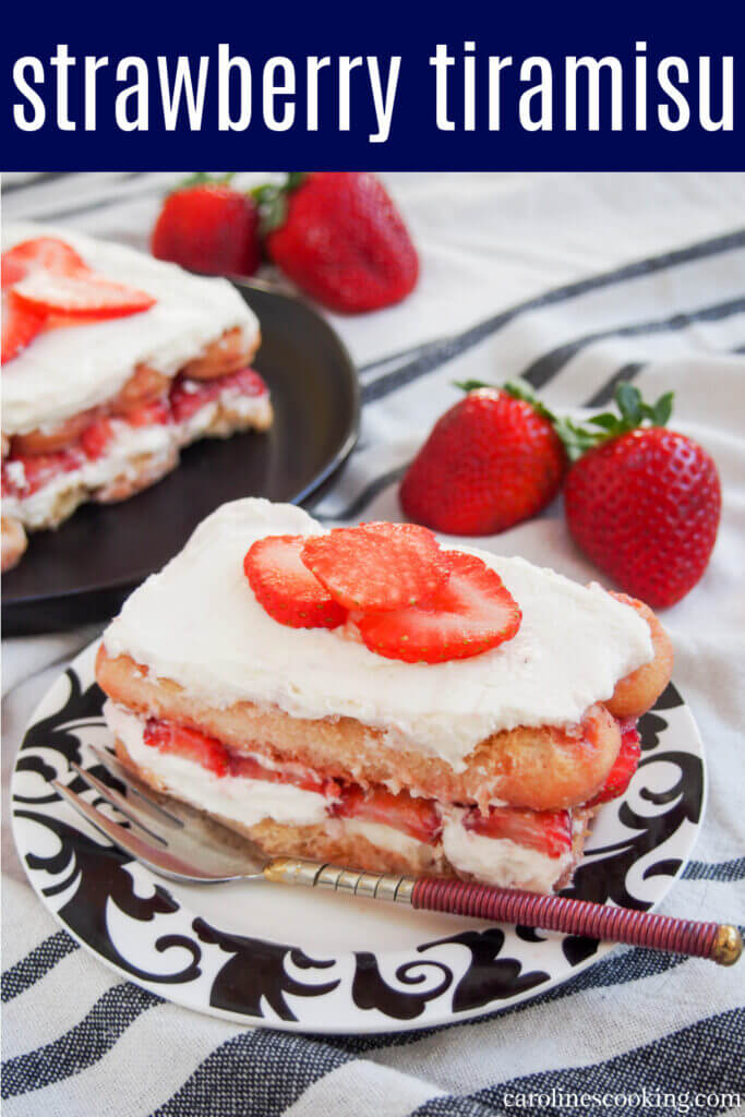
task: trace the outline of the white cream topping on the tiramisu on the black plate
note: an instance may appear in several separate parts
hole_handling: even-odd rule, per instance
[[[145,290],[156,303],[142,314],[52,330],[2,369],[2,430],[54,427],[115,395],[144,362],[171,376],[226,330],[248,342],[258,321],[227,279],[204,279],[122,245],[69,229],[9,225],[3,250],[35,237],[56,237],[105,278]]]

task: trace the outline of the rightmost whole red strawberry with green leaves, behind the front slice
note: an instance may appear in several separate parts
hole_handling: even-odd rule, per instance
[[[699,581],[719,526],[717,468],[693,438],[668,430],[672,394],[650,407],[620,384],[618,419],[580,430],[586,449],[564,488],[566,523],[579,546],[622,589],[656,609],[674,605]],[[644,421],[652,423],[642,427]],[[582,448],[582,447],[581,447]]]

